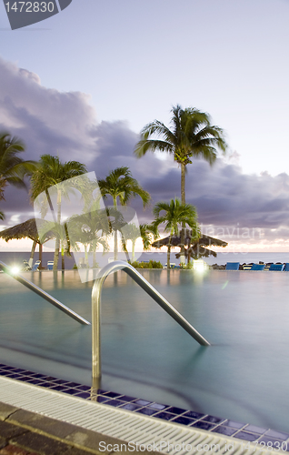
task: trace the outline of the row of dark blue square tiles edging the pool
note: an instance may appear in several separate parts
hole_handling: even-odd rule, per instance
[[[220,433],[238,440],[258,442],[268,448],[289,451],[289,433],[264,429],[247,423],[226,420],[193,410],[184,410],[162,403],[130,397],[114,391],[92,389],[76,382],[56,379],[44,374],[25,369],[17,369],[0,364],[0,375],[10,379],[24,381],[27,384],[63,392],[82,399],[93,400],[107,406],[130,410],[154,419],[172,421],[186,427]]]

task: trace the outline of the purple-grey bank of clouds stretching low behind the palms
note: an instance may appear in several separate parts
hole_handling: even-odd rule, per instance
[[[129,167],[152,195],[151,207],[145,211],[140,199],[132,202],[141,222],[152,220],[152,206],[157,201],[180,197],[181,170],[174,158],[160,159],[161,156],[148,153],[137,159],[133,154],[138,140],[135,132],[124,121],[97,123],[85,94],[47,89],[41,86],[37,75],[3,60],[0,79],[0,129],[25,141],[26,159],[38,159],[44,153],[58,154],[64,161],[76,159],[85,163],[100,178],[115,167]],[[226,161],[217,159],[213,167],[194,159],[185,177],[187,202],[197,207],[204,228],[214,227],[214,234],[219,229],[221,237],[240,239],[243,235],[243,239],[247,236],[248,242],[253,242],[256,240],[248,232],[256,229],[259,239],[286,241],[289,176],[244,175],[235,155]],[[15,224],[15,215],[19,222],[31,216],[32,206],[25,190],[7,187],[5,198],[1,202],[6,214],[3,226]]]

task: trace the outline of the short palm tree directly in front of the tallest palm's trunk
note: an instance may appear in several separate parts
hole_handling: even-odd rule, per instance
[[[160,215],[164,211],[163,215]],[[180,199],[175,197],[171,202],[158,202],[155,204],[154,209],[154,226],[158,227],[164,223],[164,231],[169,231],[169,242],[167,245],[167,268],[170,268],[171,256],[171,238],[173,235],[178,235],[178,226],[188,225],[194,231],[195,237],[200,235],[200,230],[197,223],[197,215],[195,207],[191,204],[183,204]]]

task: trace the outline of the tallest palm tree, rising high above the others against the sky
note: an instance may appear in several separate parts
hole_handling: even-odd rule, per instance
[[[185,171],[192,164],[192,157],[203,157],[213,165],[217,150],[225,152],[224,132],[218,126],[212,126],[210,116],[194,107],[182,109],[173,106],[172,128],[159,120],[146,125],[141,131],[142,138],[135,146],[136,157],[143,157],[150,150],[161,151],[174,156],[174,161],[181,167],[181,197],[185,204]],[[156,138],[154,137],[156,136]],[[160,138],[159,138],[160,137]],[[184,258],[184,226],[181,231],[181,261]]]

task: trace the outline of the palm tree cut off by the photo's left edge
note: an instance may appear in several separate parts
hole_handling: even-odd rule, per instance
[[[7,184],[25,188],[24,177],[30,175],[36,168],[35,161],[24,161],[18,154],[25,151],[24,143],[8,132],[0,132],[0,200],[4,200],[4,190]],[[0,219],[5,215],[0,212]]]

